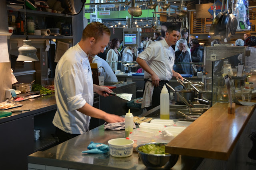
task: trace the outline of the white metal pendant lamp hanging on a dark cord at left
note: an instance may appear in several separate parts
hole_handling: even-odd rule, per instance
[[[26,10],[26,0],[24,0],[24,10],[25,10],[25,33],[26,40],[23,40],[23,45],[18,49],[19,55],[16,61],[24,61],[24,62],[32,62],[39,61],[36,56],[36,48],[31,44],[31,40],[28,40],[28,32],[27,32],[27,10]]]

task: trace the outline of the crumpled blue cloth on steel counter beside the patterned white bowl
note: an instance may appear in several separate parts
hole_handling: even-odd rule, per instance
[[[109,151],[108,145],[105,145],[103,143],[94,143],[92,141],[88,145],[87,149],[89,150],[82,151],[82,153],[102,154]]]

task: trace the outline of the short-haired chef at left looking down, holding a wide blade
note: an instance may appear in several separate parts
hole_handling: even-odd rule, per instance
[[[92,107],[93,92],[108,96],[107,87],[92,83],[88,56],[104,51],[110,39],[110,30],[100,22],[88,24],[82,39],[68,49],[56,66],[54,85],[57,111],[52,123],[56,126],[56,140],[62,143],[89,130],[90,117],[108,123],[122,122],[123,117]]]

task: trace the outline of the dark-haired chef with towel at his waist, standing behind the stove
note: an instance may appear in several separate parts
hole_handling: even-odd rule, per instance
[[[178,72],[172,70],[175,53],[171,46],[176,44],[179,36],[178,28],[168,27],[163,40],[151,43],[138,55],[136,62],[145,70],[142,108],[147,107],[148,110],[160,105],[161,90],[172,76],[183,80]]]

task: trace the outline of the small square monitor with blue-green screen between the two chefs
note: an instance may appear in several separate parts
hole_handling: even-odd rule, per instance
[[[124,46],[139,46],[138,31],[123,31],[123,45]]]

